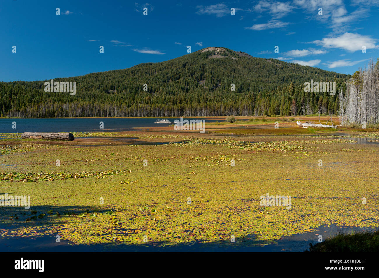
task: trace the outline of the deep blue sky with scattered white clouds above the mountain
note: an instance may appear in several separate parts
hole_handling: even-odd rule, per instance
[[[0,0],[0,81],[166,61],[188,45],[350,74],[379,57],[379,0],[135,1]]]

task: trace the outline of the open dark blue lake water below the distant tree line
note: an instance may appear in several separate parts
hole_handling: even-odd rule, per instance
[[[136,127],[168,127],[169,123],[154,123],[158,118],[17,118],[0,119],[0,133],[22,133],[22,132],[93,132],[93,131],[127,131]],[[162,119],[162,118],[160,118]],[[207,122],[223,121],[219,119],[189,118],[199,119]],[[180,118],[168,118],[170,122],[180,120]],[[16,122],[16,129],[12,128]],[[104,128],[100,129],[100,122],[104,123]]]

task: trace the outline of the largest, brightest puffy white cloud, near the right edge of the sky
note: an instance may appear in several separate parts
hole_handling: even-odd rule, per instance
[[[321,41],[313,41],[313,43],[326,48],[341,48],[350,52],[362,50],[363,45],[366,49],[378,48],[376,42],[377,39],[373,39],[371,36],[354,33],[345,33],[338,37],[325,37]]]

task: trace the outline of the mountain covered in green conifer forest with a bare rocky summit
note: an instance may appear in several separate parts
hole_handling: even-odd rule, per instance
[[[210,47],[169,61],[54,79],[75,81],[75,95],[45,92],[44,83],[50,80],[0,82],[0,109],[2,117],[337,114],[338,92],[341,86],[345,90],[348,78]],[[304,92],[310,80],[336,81],[337,93]]]

